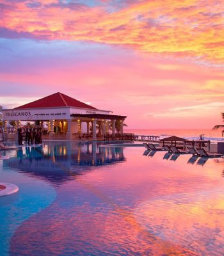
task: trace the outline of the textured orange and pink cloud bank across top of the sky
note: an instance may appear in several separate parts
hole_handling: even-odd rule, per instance
[[[221,1],[3,0],[1,7],[4,38],[93,41],[219,65],[224,60]]]

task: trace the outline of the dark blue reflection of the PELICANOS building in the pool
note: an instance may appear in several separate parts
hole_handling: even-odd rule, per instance
[[[123,148],[98,147],[99,143],[51,143],[44,147],[18,148],[17,157],[6,159],[3,166],[15,168],[61,183],[77,175],[125,161]]]

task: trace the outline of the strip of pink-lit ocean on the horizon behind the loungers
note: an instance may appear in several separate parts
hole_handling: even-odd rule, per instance
[[[126,133],[143,134],[143,135],[154,135],[159,136],[161,139],[169,136],[178,136],[180,138],[186,138],[188,140],[200,140],[200,134],[204,134],[204,140],[211,140],[211,142],[224,142],[224,137],[221,136],[221,129],[218,130],[149,130],[149,129],[124,129]]]

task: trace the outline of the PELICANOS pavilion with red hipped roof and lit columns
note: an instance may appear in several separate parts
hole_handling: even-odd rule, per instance
[[[99,134],[102,136],[109,134],[109,123],[111,122],[111,132],[115,135],[115,124],[118,120],[120,134],[123,134],[123,124],[127,116],[111,115],[111,112],[97,109],[58,92],[14,109],[3,109],[4,133],[7,133],[7,122],[15,121],[16,128],[18,128],[21,121],[34,121],[40,127],[47,122],[47,133],[51,136],[59,131],[61,134],[66,134],[67,140],[71,140],[73,134],[86,133],[95,140],[97,138],[97,122]],[[92,132],[90,132],[90,124],[92,124]]]

